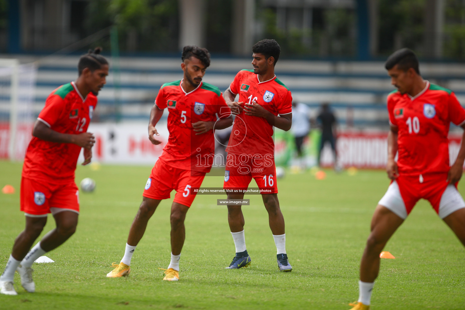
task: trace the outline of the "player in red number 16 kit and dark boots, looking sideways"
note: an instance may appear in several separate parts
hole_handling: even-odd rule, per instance
[[[244,198],[252,178],[268,211],[270,228],[277,249],[278,267],[291,271],[286,254],[284,217],[279,209],[274,165],[273,126],[288,131],[292,125],[292,96],[274,75],[280,47],[275,40],[261,40],[252,47],[253,70],[237,73],[225,91],[226,103],[236,114],[226,152],[224,189],[228,199]],[[239,94],[238,101],[234,101]],[[239,193],[237,192],[239,191]],[[251,264],[246,250],[244,216],[241,205],[228,205],[228,222],[236,255],[227,269]]]

